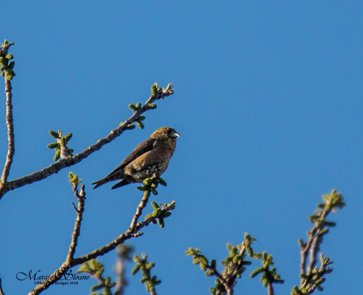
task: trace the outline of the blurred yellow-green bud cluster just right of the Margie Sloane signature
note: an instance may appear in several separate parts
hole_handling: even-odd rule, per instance
[[[92,259],[83,263],[77,270],[77,273],[87,273],[99,281],[98,284],[91,287],[92,292],[102,289],[103,292],[99,293],[99,295],[112,295],[111,288],[116,286],[116,283],[111,282],[109,276],[104,279],[102,277],[103,271],[105,271],[103,264],[96,259]],[[91,295],[97,295],[97,292],[92,293]]]

